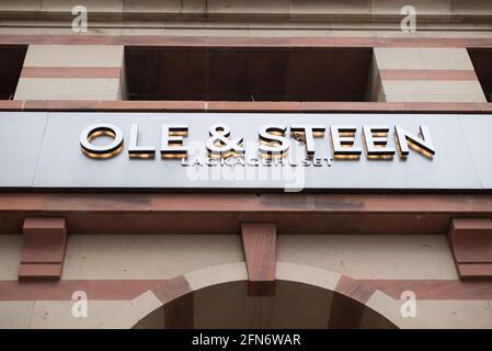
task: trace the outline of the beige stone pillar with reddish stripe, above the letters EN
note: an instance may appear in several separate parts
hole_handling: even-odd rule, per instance
[[[462,47],[375,47],[373,101],[487,102]]]

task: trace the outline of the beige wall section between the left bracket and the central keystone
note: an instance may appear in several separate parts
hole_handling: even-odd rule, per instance
[[[239,261],[237,235],[70,235],[62,279],[171,279]]]

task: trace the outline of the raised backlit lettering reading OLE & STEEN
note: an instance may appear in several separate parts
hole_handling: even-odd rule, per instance
[[[186,124],[163,124],[160,155],[163,159],[188,158],[188,148],[184,146],[184,137],[188,134]],[[258,156],[265,159],[287,158],[291,141],[287,137],[287,129],[291,136],[306,148],[306,157],[314,158],[314,137],[323,137],[327,127],[324,125],[294,124],[289,127],[283,124],[264,125],[258,133]],[[362,136],[366,155],[371,159],[389,159],[396,154],[396,147],[388,146],[390,127],[387,125],[363,125]],[[129,136],[128,156],[130,158],[155,158],[156,147],[138,145],[138,124],[131,124]],[[332,155],[337,159],[358,159],[363,154],[361,147],[355,146],[357,126],[331,125]],[[409,146],[428,158],[433,158],[435,149],[431,133],[426,125],[420,126],[421,136],[394,125],[394,140],[401,158],[409,155]],[[95,145],[92,140],[99,136],[108,136],[112,140],[105,145]],[[90,158],[111,158],[123,150],[124,133],[113,124],[100,123],[84,128],[80,135],[82,152]],[[328,147],[325,143],[324,147]],[[209,158],[243,158],[243,138],[230,138],[230,127],[225,123],[214,124],[209,128],[209,137],[206,140],[206,150]],[[268,162],[266,162],[268,163]]]

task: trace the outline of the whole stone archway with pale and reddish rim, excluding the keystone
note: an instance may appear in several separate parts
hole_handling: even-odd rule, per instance
[[[401,302],[331,271],[277,262],[275,296],[248,296],[243,262],[169,280],[102,328],[412,328]]]

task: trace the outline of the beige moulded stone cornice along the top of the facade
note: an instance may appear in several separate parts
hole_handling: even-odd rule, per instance
[[[76,0],[2,0],[0,33],[490,37],[492,30],[489,0],[85,0],[89,30],[73,33],[71,11],[79,4]],[[405,5],[416,11],[416,33],[400,31]],[[428,33],[422,34],[425,30]]]

